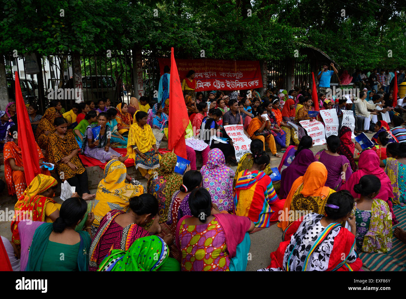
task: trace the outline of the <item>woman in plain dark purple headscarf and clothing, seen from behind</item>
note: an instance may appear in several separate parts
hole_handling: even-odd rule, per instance
[[[307,167],[314,162],[313,152],[306,148],[298,149],[292,163],[283,169],[281,173],[281,189],[279,198],[284,199],[289,194],[293,182],[300,176],[303,176]]]

